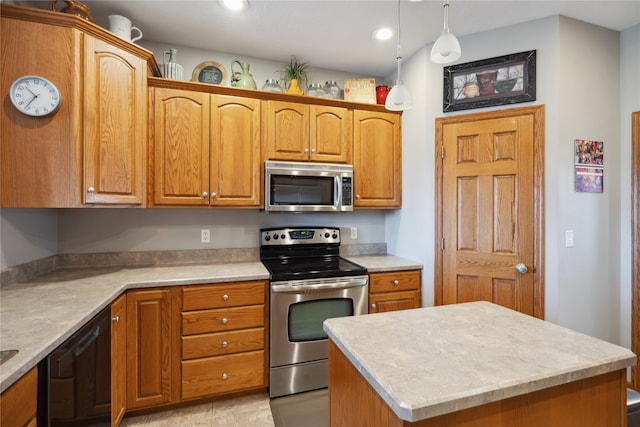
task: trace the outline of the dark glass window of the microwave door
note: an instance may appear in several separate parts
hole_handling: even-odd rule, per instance
[[[272,175],[272,205],[333,205],[331,176]]]

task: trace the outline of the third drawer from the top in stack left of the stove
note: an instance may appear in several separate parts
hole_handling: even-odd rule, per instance
[[[182,337],[182,359],[264,350],[264,328]]]

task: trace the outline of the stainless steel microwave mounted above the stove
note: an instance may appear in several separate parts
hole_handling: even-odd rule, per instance
[[[267,212],[345,212],[353,210],[353,165],[267,161]]]

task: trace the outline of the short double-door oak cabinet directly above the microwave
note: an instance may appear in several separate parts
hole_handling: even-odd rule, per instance
[[[351,163],[350,109],[271,100],[264,105],[264,160]]]

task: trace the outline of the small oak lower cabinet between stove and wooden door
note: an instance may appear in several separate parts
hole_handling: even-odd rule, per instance
[[[419,308],[420,270],[371,273],[369,275],[369,313]]]

